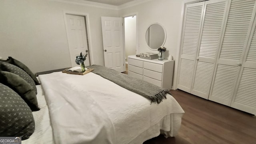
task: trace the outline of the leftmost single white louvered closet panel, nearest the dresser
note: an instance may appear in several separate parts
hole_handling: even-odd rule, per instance
[[[187,4],[184,14],[178,88],[190,92],[204,12],[204,3]]]

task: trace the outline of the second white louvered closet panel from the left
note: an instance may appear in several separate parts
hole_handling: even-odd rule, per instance
[[[208,99],[228,0],[205,2],[191,94]]]

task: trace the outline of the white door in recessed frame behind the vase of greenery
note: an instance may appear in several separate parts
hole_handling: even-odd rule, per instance
[[[70,60],[72,67],[74,67],[78,66],[75,62],[76,56],[80,55],[80,52],[85,54],[86,50],[88,50],[85,20],[83,16],[75,16],[70,14],[66,14],[66,20]],[[86,66],[90,65],[89,59],[89,56],[87,56],[84,62]]]

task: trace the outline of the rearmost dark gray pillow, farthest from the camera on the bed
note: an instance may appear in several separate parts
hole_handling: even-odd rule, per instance
[[[19,68],[21,68],[22,70],[24,70],[35,82],[36,85],[39,85],[40,83],[38,82],[38,79],[36,78],[36,76],[33,74],[33,72],[22,62],[12,58],[12,57],[8,57],[7,60],[1,60],[2,62],[8,62],[10,64],[13,64],[15,66],[18,66]]]

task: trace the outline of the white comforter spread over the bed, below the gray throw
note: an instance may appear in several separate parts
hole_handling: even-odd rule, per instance
[[[160,104],[92,72],[39,76],[57,144],[131,144],[157,136],[150,128],[175,136],[184,111],[168,95]],[[149,131],[150,132],[150,131]]]

